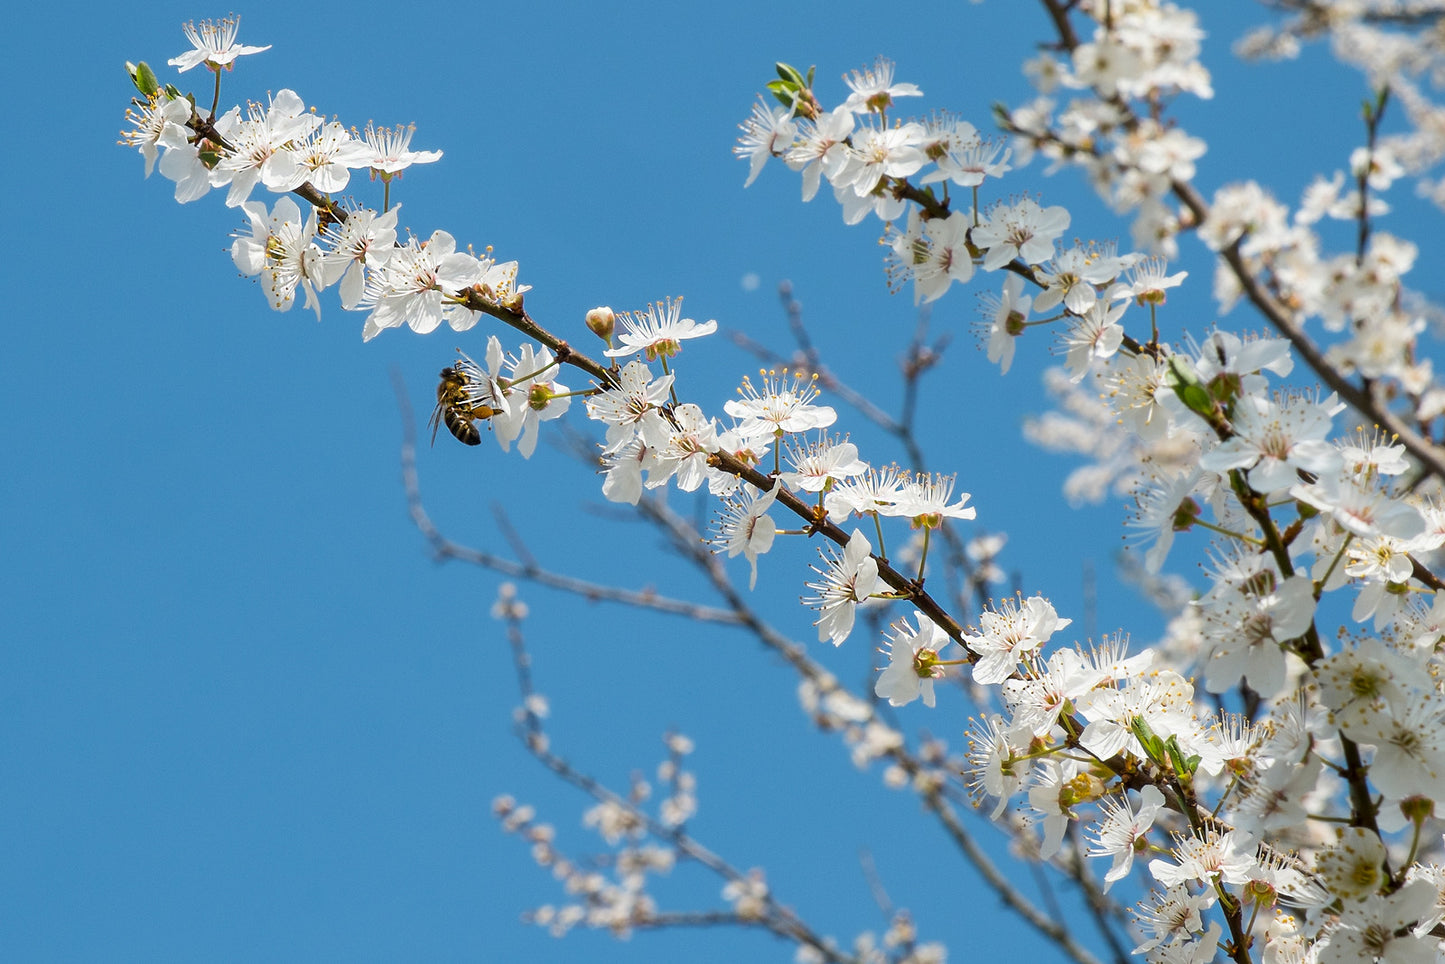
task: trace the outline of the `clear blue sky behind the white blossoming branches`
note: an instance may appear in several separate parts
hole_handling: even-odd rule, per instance
[[[1311,172],[1344,163],[1363,90],[1324,72],[1318,51],[1298,77],[1235,64],[1228,42],[1263,14],[1207,6],[1218,97],[1179,113],[1211,145],[1199,184],[1250,175],[1292,201]],[[786,348],[772,292],[790,279],[831,364],[886,406],[916,317],[884,289],[876,223],[844,227],[827,197],[801,204],[780,166],[744,191],[736,124],[777,59],[816,64],[819,88],[840,97],[838,75],[887,55],[923,88],[920,104],[985,129],[991,103],[1025,97],[1017,64],[1046,35],[1032,4],[1001,1],[887,14],[850,3],[400,13],[370,0],[315,20],[292,4],[237,12],[241,40],[273,49],[243,59],[223,103],[290,87],[348,124],[415,123],[413,146],[447,153],[393,192],[402,224],[519,259],[545,324],[582,343],[595,304],[685,295],[688,314]],[[585,801],[510,734],[516,687],[488,616],[499,580],[434,564],[407,519],[392,390],[396,371],[425,418],[436,370],[454,345],[480,354],[483,330],[363,344],[361,315],[331,298],[321,324],[270,312],[227,254],[238,212],[220,194],[176,205],[114,145],[130,97],[121,64],[146,59],[175,79],[163,62],[186,48],[179,25],[227,10],[72,13],[27,7],[0,66],[9,90],[33,91],[10,121],[19,243],[0,353],[6,957],[790,960],[750,934],[556,941],[519,922],[562,895],[496,827],[491,799],[536,804],[564,845],[584,850]],[[188,74],[182,88],[205,79]],[[1127,237],[1074,178],[1035,168],[1007,185],[1068,205],[1071,234]],[[1209,269],[1186,251],[1192,283],[1166,324],[1202,331]],[[741,285],[749,273],[757,291]],[[1042,347],[1000,380],[974,351],[974,314],[971,292],[957,291],[933,311],[935,330],[954,335],[920,419],[935,467],[959,473],[978,525],[1009,532],[1010,569],[1081,636],[1124,627],[1147,640],[1157,619],[1110,575],[1120,509],[1071,510],[1058,496],[1068,461],[1017,441],[1020,419],[1043,406]],[[756,367],[714,338],[683,354],[679,384],[720,408]],[[854,435],[864,458],[899,457],[861,426]],[[650,533],[595,512],[595,478],[540,448],[530,461],[490,439],[423,448],[435,522],[504,551],[504,512],[549,568],[711,601]],[[788,551],[764,561],[759,597],[811,640],[795,600],[812,554]],[[1104,585],[1088,629],[1085,565]],[[881,931],[866,848],[925,939],[951,941],[959,958],[1038,948],[1013,926],[978,925],[980,908],[1003,919],[994,900],[913,799],[806,728],[788,672],[754,642],[540,588],[522,595],[553,746],[578,766],[620,786],[681,728],[698,743],[696,835],[738,866],[766,866],[819,929],[844,941]],[[821,658],[863,679],[870,649],[855,636]],[[913,705],[902,720],[957,744],[965,715]],[[984,822],[975,830],[997,843]],[[676,908],[718,902],[715,883],[686,873],[663,893]]]

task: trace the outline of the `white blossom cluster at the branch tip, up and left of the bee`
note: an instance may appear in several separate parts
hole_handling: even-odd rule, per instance
[[[217,74],[237,56],[269,46],[236,43],[238,19],[186,25],[194,49],[171,59],[181,71],[205,65]],[[231,257],[243,275],[260,277],[276,311],[289,311],[298,296],[321,318],[318,292],[340,285],[341,304],[366,311],[363,338],[407,325],[426,334],[442,322],[455,331],[477,324],[486,306],[516,308],[526,285],[517,285],[517,263],[497,263],[488,254],[457,250],[447,231],[399,241],[400,205],[342,208],[329,195],[347,189],[353,171],[367,171],[389,188],[393,178],[418,163],[431,163],[439,150],[412,150],[412,127],[357,132],[325,121],[308,110],[292,90],[266,104],[250,103],[215,116],[201,111],[173,85],[162,87],[144,64],[131,65],[143,94],[127,111],[130,129],[123,143],[136,147],[149,176],[158,166],[173,181],[176,201],[185,204],[225,188],[225,205],[241,208],[247,224],[236,236]],[[220,87],[217,87],[220,91]],[[159,160],[159,163],[158,163]],[[262,186],[282,195],[267,207],[251,201]],[[289,197],[298,192],[312,207],[302,212]]]

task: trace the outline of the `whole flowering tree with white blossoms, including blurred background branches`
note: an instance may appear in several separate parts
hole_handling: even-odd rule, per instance
[[[1194,13],[1144,0],[1043,0],[1055,35],[1027,65],[1040,97],[1000,107],[1000,137],[942,110],[905,119],[923,91],[896,82],[880,59],[847,74],[845,94],[779,64],[736,147],[749,184],[772,160],[801,175],[805,201],[827,181],[847,224],[877,218],[887,277],[915,304],[955,283],[985,291],[983,340],[1003,371],[1020,343],[1029,351],[1051,332],[1065,357],[1062,410],[1030,432],[1094,457],[1069,480],[1074,494],[1131,493],[1139,578],[1169,617],[1147,647],[1126,633],[1069,639],[1072,619],[1032,587],[990,598],[1003,541],[971,528],[985,520],[955,491],[957,474],[926,468],[957,452],[925,455],[907,413],[890,418],[841,383],[796,318],[790,364],[743,377],[738,397],[718,408],[689,393],[681,363],[718,325],[683,317],[681,299],[536,318],[516,262],[445,230],[400,238],[392,181],[441,153],[410,150],[409,129],[327,121],[290,90],[220,111],[236,58],[267,49],[238,45],[236,20],[188,26],[194,49],[171,61],[211,71],[210,91],[184,94],[146,64],[130,66],[140,95],[124,137],[147,173],[159,166],[175,182],[178,201],[225,189],[246,217],[233,260],[260,279],[273,309],[299,298],[319,318],[335,288],[344,309],[364,312],[366,340],[402,325],[486,324],[484,343],[444,363],[432,439],[442,428],[471,447],[490,435],[526,458],[543,432],[562,435],[577,399],[597,423],[582,461],[600,470],[603,496],[636,507],[721,606],[468,551],[431,525],[412,474],[413,515],[438,552],[751,633],[796,673],[814,726],[915,793],[1064,955],[1435,960],[1445,937],[1435,814],[1445,799],[1445,597],[1435,595],[1445,585],[1435,574],[1445,390],[1422,341],[1436,309],[1403,285],[1416,247],[1380,225],[1390,215],[1381,195],[1403,178],[1445,205],[1428,176],[1445,155],[1445,111],[1429,95],[1445,6],[1282,6],[1287,19],[1248,38],[1247,55],[1287,56],[1328,38],[1373,91],[1350,169],[1321,173],[1293,208],[1251,181],[1212,198],[1194,188],[1205,145],[1169,108],[1211,94],[1202,33]],[[1396,104],[1406,120],[1387,134]],[[1006,194],[1004,179],[1017,182],[1035,155],[1082,168],[1131,217],[1131,250],[1068,243],[1065,231],[1088,231],[1066,210]],[[376,207],[342,199],[360,186],[357,171],[380,181]],[[251,199],[257,188],[279,197]],[[1351,225],[1353,246],[1331,251],[1325,221]],[[1168,293],[1202,275],[1170,272],[1181,259],[1212,264],[1221,306],[1264,334],[1163,340]],[[906,384],[936,364],[935,345],[915,338]],[[909,467],[860,451],[842,434],[848,418],[890,431]],[[714,500],[705,535],[669,504],[673,487]],[[1212,533],[1198,593],[1166,575],[1179,565],[1175,533],[1189,530]],[[819,546],[811,577],[803,541]],[[746,588],[744,567],[725,562],[736,556]],[[753,601],[769,593],[803,593],[806,610],[769,620]],[[801,960],[944,957],[906,912],[881,941],[827,935],[773,895],[762,870],[707,848],[688,830],[698,801],[685,736],[666,739],[656,802],[640,779],[608,789],[555,753],[548,704],[532,689],[526,606],[510,585],[496,614],[514,647],[519,731],[591,795],[587,822],[610,848],[598,870],[561,853],[530,806],[496,802],[503,827],[564,885],[559,906],[533,913],[539,924],[559,934],[734,924],[785,938]],[[809,623],[814,646],[879,647],[867,691],[790,639]],[[944,700],[977,713],[962,750],[925,736],[922,714]],[[964,817],[970,804],[1010,837],[1019,861],[1078,887],[1103,938],[1085,939],[988,860]],[[660,909],[656,882],[679,860],[720,877],[725,909]]]

